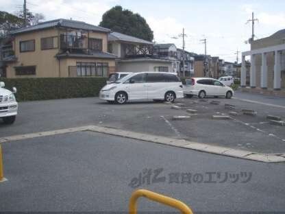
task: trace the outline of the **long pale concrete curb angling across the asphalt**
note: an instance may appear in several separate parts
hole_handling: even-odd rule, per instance
[[[127,130],[118,130],[115,128],[106,128],[102,126],[82,126],[77,128],[66,128],[62,130],[53,130],[47,132],[37,132],[31,134],[21,134],[15,136],[6,136],[0,138],[1,143],[8,143],[10,141],[20,141],[24,139],[33,139],[41,136],[53,136],[56,134],[67,134],[72,132],[99,132],[103,134],[111,134],[114,136],[121,136],[140,141],[148,141],[152,143],[160,143],[162,145],[171,145],[175,147],[182,147],[190,150],[197,150],[199,152],[208,152],[211,154],[219,154],[223,156],[230,156],[234,158],[242,158],[246,160],[255,160],[264,163],[282,163],[285,162],[285,154],[260,154],[258,152],[250,152],[246,150],[236,150],[230,147],[222,147],[216,145],[208,145],[206,143],[197,143],[193,141],[186,141],[184,139],[172,139],[165,136],[156,136],[152,134],[143,134]]]

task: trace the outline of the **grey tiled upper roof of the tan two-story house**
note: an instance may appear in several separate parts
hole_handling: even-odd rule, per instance
[[[110,32],[110,29],[99,27],[96,25],[90,25],[88,23],[85,23],[83,21],[74,21],[69,19],[55,19],[51,21],[45,21],[42,23],[38,23],[37,25],[32,25],[29,27],[23,27],[20,29],[15,29],[11,32],[11,34],[20,34],[24,32],[30,32],[38,29],[46,29],[51,27],[69,27],[73,29],[85,29],[85,30],[92,30],[96,32]]]

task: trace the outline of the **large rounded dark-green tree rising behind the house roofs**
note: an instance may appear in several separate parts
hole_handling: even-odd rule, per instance
[[[153,31],[147,24],[147,21],[140,14],[134,14],[130,10],[123,10],[120,5],[105,12],[99,25],[114,32],[149,41],[153,40]]]

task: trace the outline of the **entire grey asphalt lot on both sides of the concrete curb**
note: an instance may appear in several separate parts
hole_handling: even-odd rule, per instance
[[[285,117],[285,99],[238,94],[236,99],[179,99],[186,108],[139,102],[123,106],[90,98],[23,102],[12,126],[0,123],[0,140],[49,130],[99,126],[187,139],[212,145],[257,151],[285,152],[284,126],[275,126],[267,115]],[[211,104],[217,101],[219,104]],[[250,101],[250,102],[249,102]],[[236,106],[225,109],[225,104]],[[189,116],[186,121],[173,116]],[[257,115],[243,115],[250,108]],[[233,119],[212,119],[228,115]],[[0,183],[0,211],[127,211],[129,196],[145,188],[182,200],[197,212],[240,213],[284,211],[284,163],[259,163],[227,156],[160,145],[98,132],[32,137],[1,143],[4,175]],[[164,182],[130,186],[145,169],[163,169]],[[227,182],[171,182],[169,174],[228,174]],[[234,181],[230,174],[251,174],[250,180]],[[236,176],[235,176],[236,177]],[[241,179],[241,176],[240,176]],[[249,200],[250,199],[250,200]],[[140,200],[140,211],[173,211]]]

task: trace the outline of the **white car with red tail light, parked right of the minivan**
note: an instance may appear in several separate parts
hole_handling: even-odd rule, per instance
[[[234,91],[219,80],[212,78],[190,78],[186,79],[184,95],[186,95],[186,97],[196,95],[199,98],[205,98],[206,96],[223,96],[230,99],[234,95]]]

